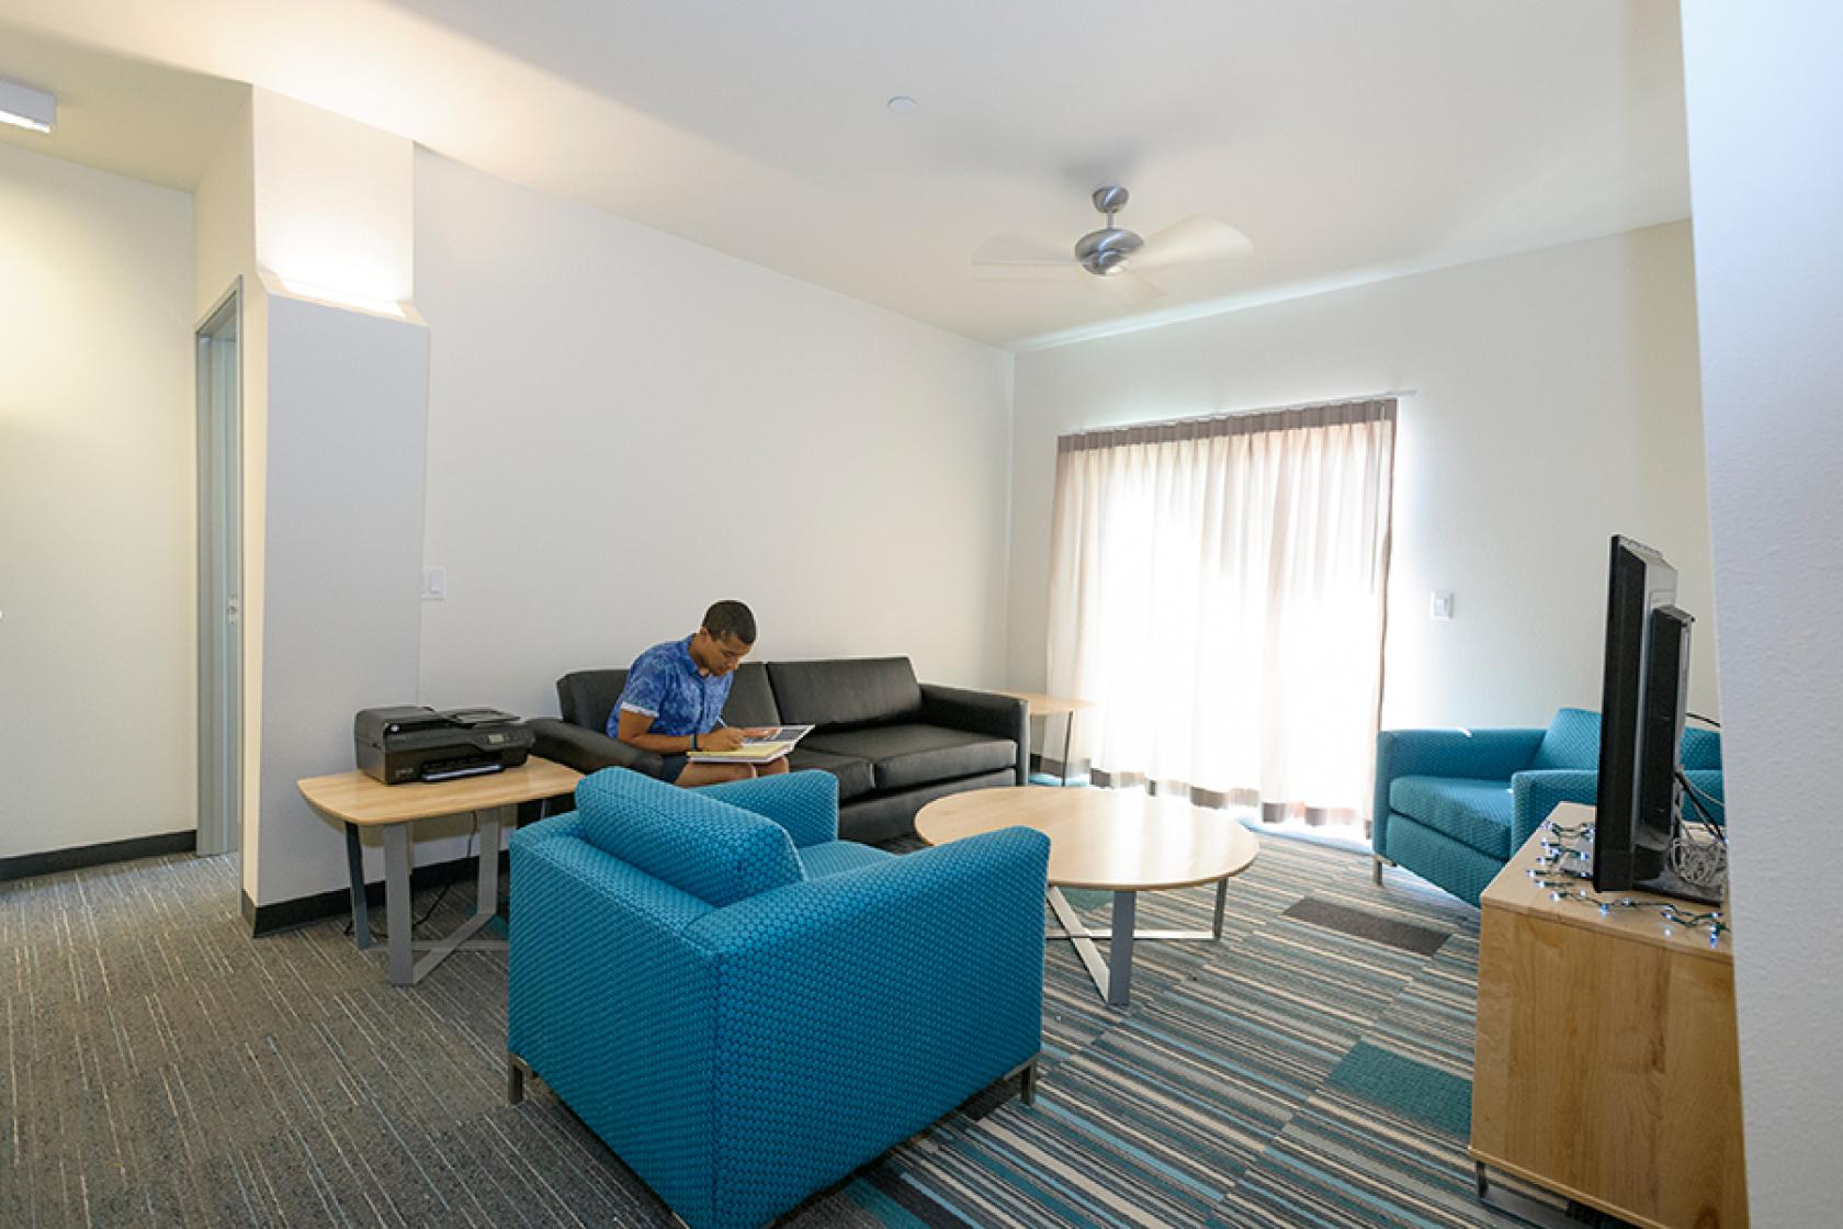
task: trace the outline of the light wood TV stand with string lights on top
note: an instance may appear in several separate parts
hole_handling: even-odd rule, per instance
[[[1550,818],[1589,822],[1592,807]],[[1635,1225],[1745,1225],[1732,936],[1710,945],[1705,931],[1666,934],[1651,910],[1550,899],[1528,873],[1544,835],[1482,899],[1478,1194],[1491,1166]]]

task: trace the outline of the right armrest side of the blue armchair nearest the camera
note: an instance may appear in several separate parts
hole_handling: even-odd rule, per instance
[[[719,964],[719,1190],[759,1223],[1028,1061],[1049,838],[1004,829],[811,879],[691,927]]]

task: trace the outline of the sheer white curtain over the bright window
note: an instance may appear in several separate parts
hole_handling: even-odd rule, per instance
[[[1108,774],[1368,814],[1395,402],[1058,442],[1049,687]]]

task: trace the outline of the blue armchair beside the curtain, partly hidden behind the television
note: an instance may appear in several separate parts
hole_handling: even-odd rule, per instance
[[[1721,796],[1721,735],[1683,732],[1690,781]],[[1471,905],[1555,803],[1592,805],[1600,713],[1546,730],[1384,730],[1377,739],[1375,881],[1403,866]]]

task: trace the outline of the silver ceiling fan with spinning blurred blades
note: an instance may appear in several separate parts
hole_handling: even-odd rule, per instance
[[[1126,188],[1119,184],[1095,188],[1091,199],[1095,208],[1108,216],[1108,225],[1084,234],[1071,252],[1015,234],[995,234],[979,245],[973,263],[1010,269],[1084,269],[1102,278],[1104,289],[1113,289],[1130,302],[1143,302],[1165,293],[1139,276],[1143,269],[1187,265],[1253,251],[1246,234],[1209,214],[1191,214],[1150,238],[1141,238],[1113,221],[1128,199]]]

